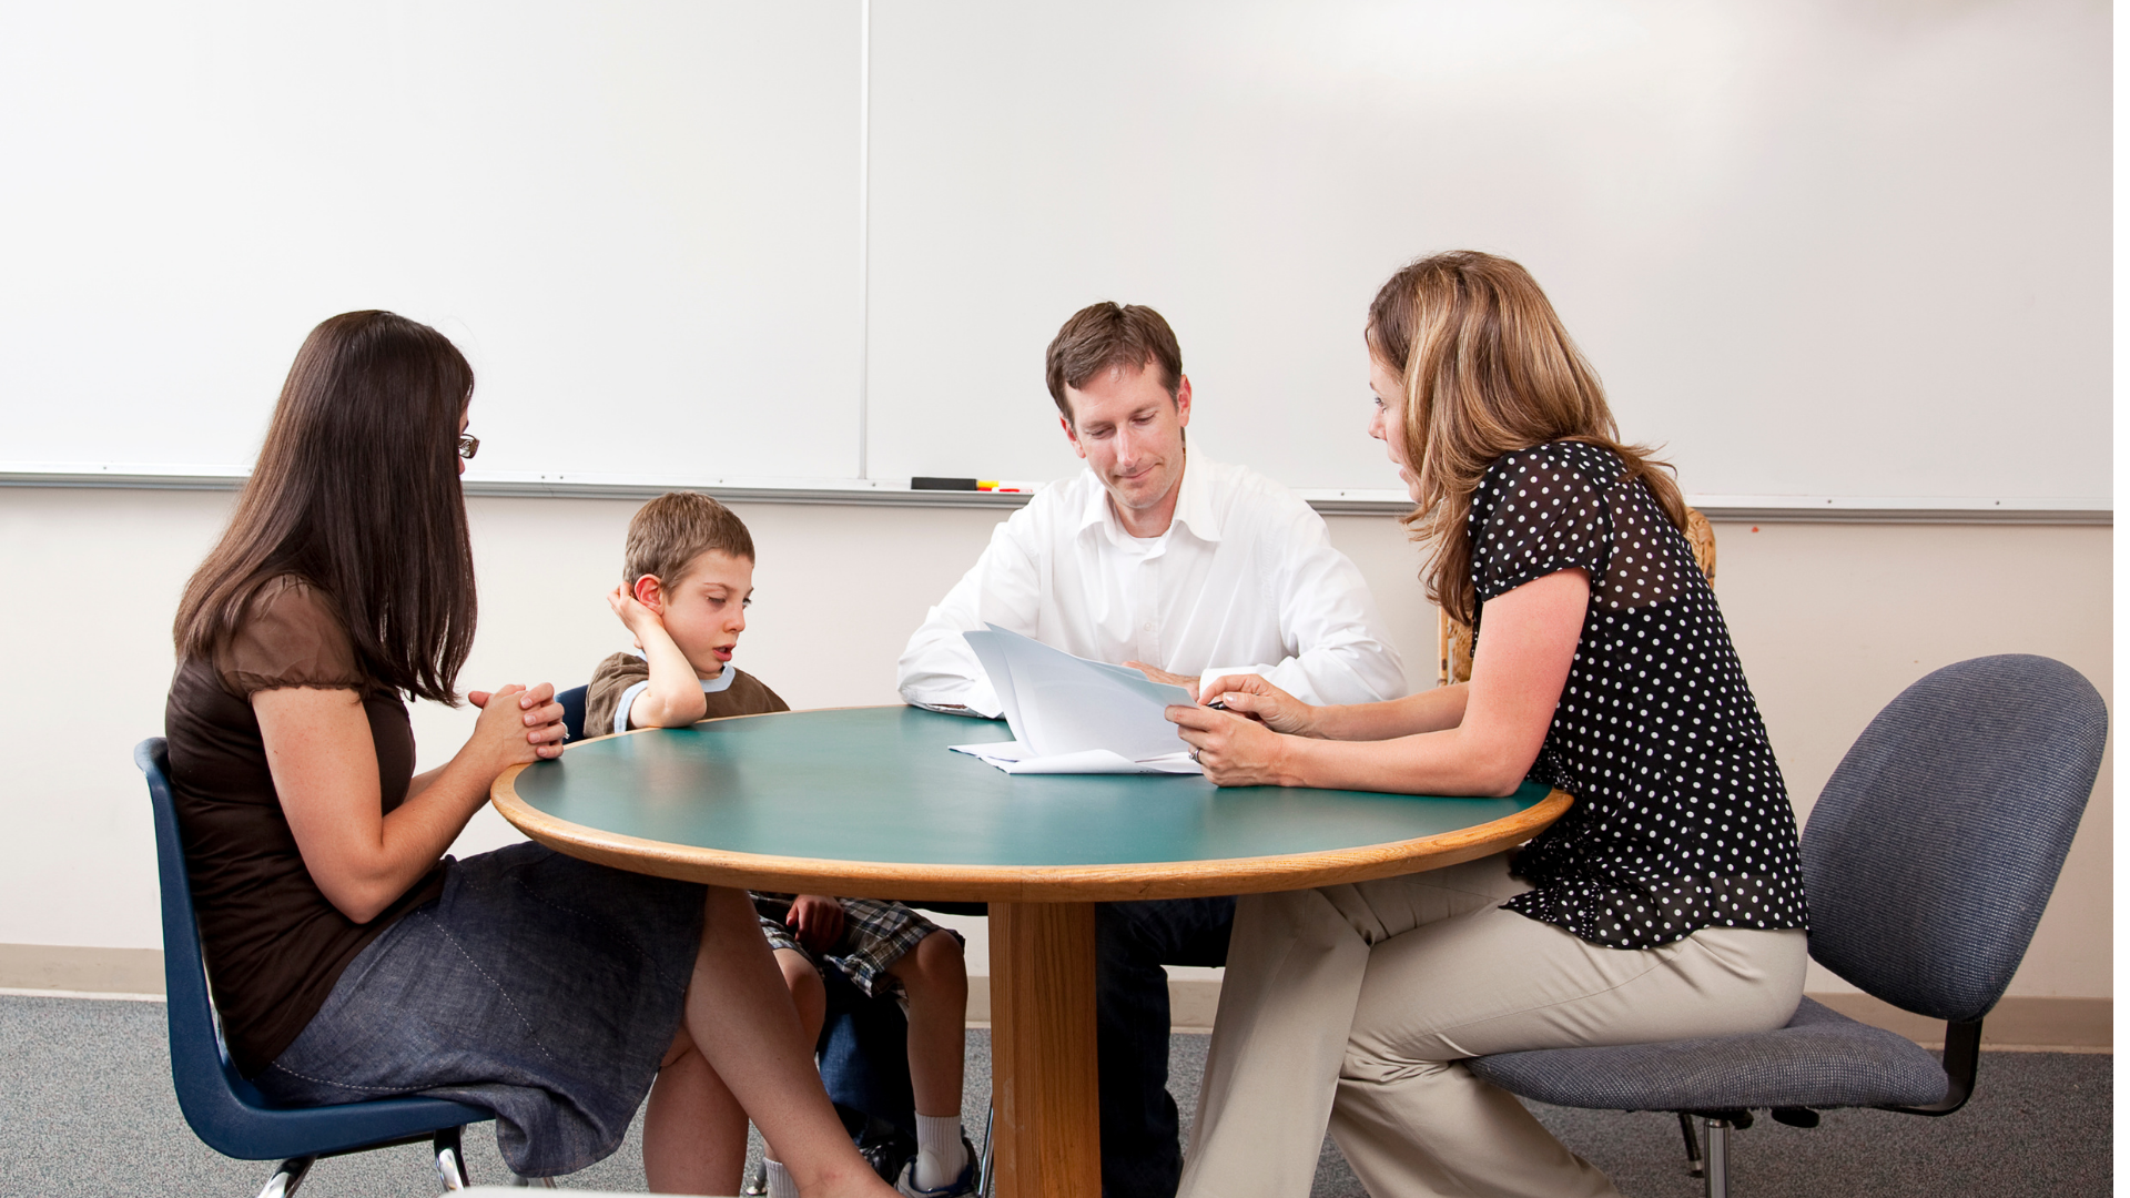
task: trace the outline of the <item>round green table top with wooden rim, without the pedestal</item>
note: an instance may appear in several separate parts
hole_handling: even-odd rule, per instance
[[[886,868],[867,870],[873,878],[961,878],[944,889],[967,897],[999,897],[995,887],[971,891],[980,876],[1065,870],[1118,883],[1146,865],[1218,870],[1210,863],[1370,851],[1536,821],[1514,838],[1523,840],[1557,814],[1534,810],[1549,799],[1538,784],[1506,799],[1218,789],[1195,774],[1014,776],[948,750],[993,740],[1012,733],[1003,723],[920,708],[743,716],[575,744],[556,761],[507,774],[496,795],[507,816],[558,848],[575,851],[567,842],[575,838],[701,865],[648,872],[718,880],[748,872],[735,855],[782,863],[754,861],[765,876],[801,868],[794,859],[869,863]],[[724,872],[705,861],[722,861]],[[1197,889],[1225,893],[1210,883]],[[956,897],[916,891],[901,893]]]

